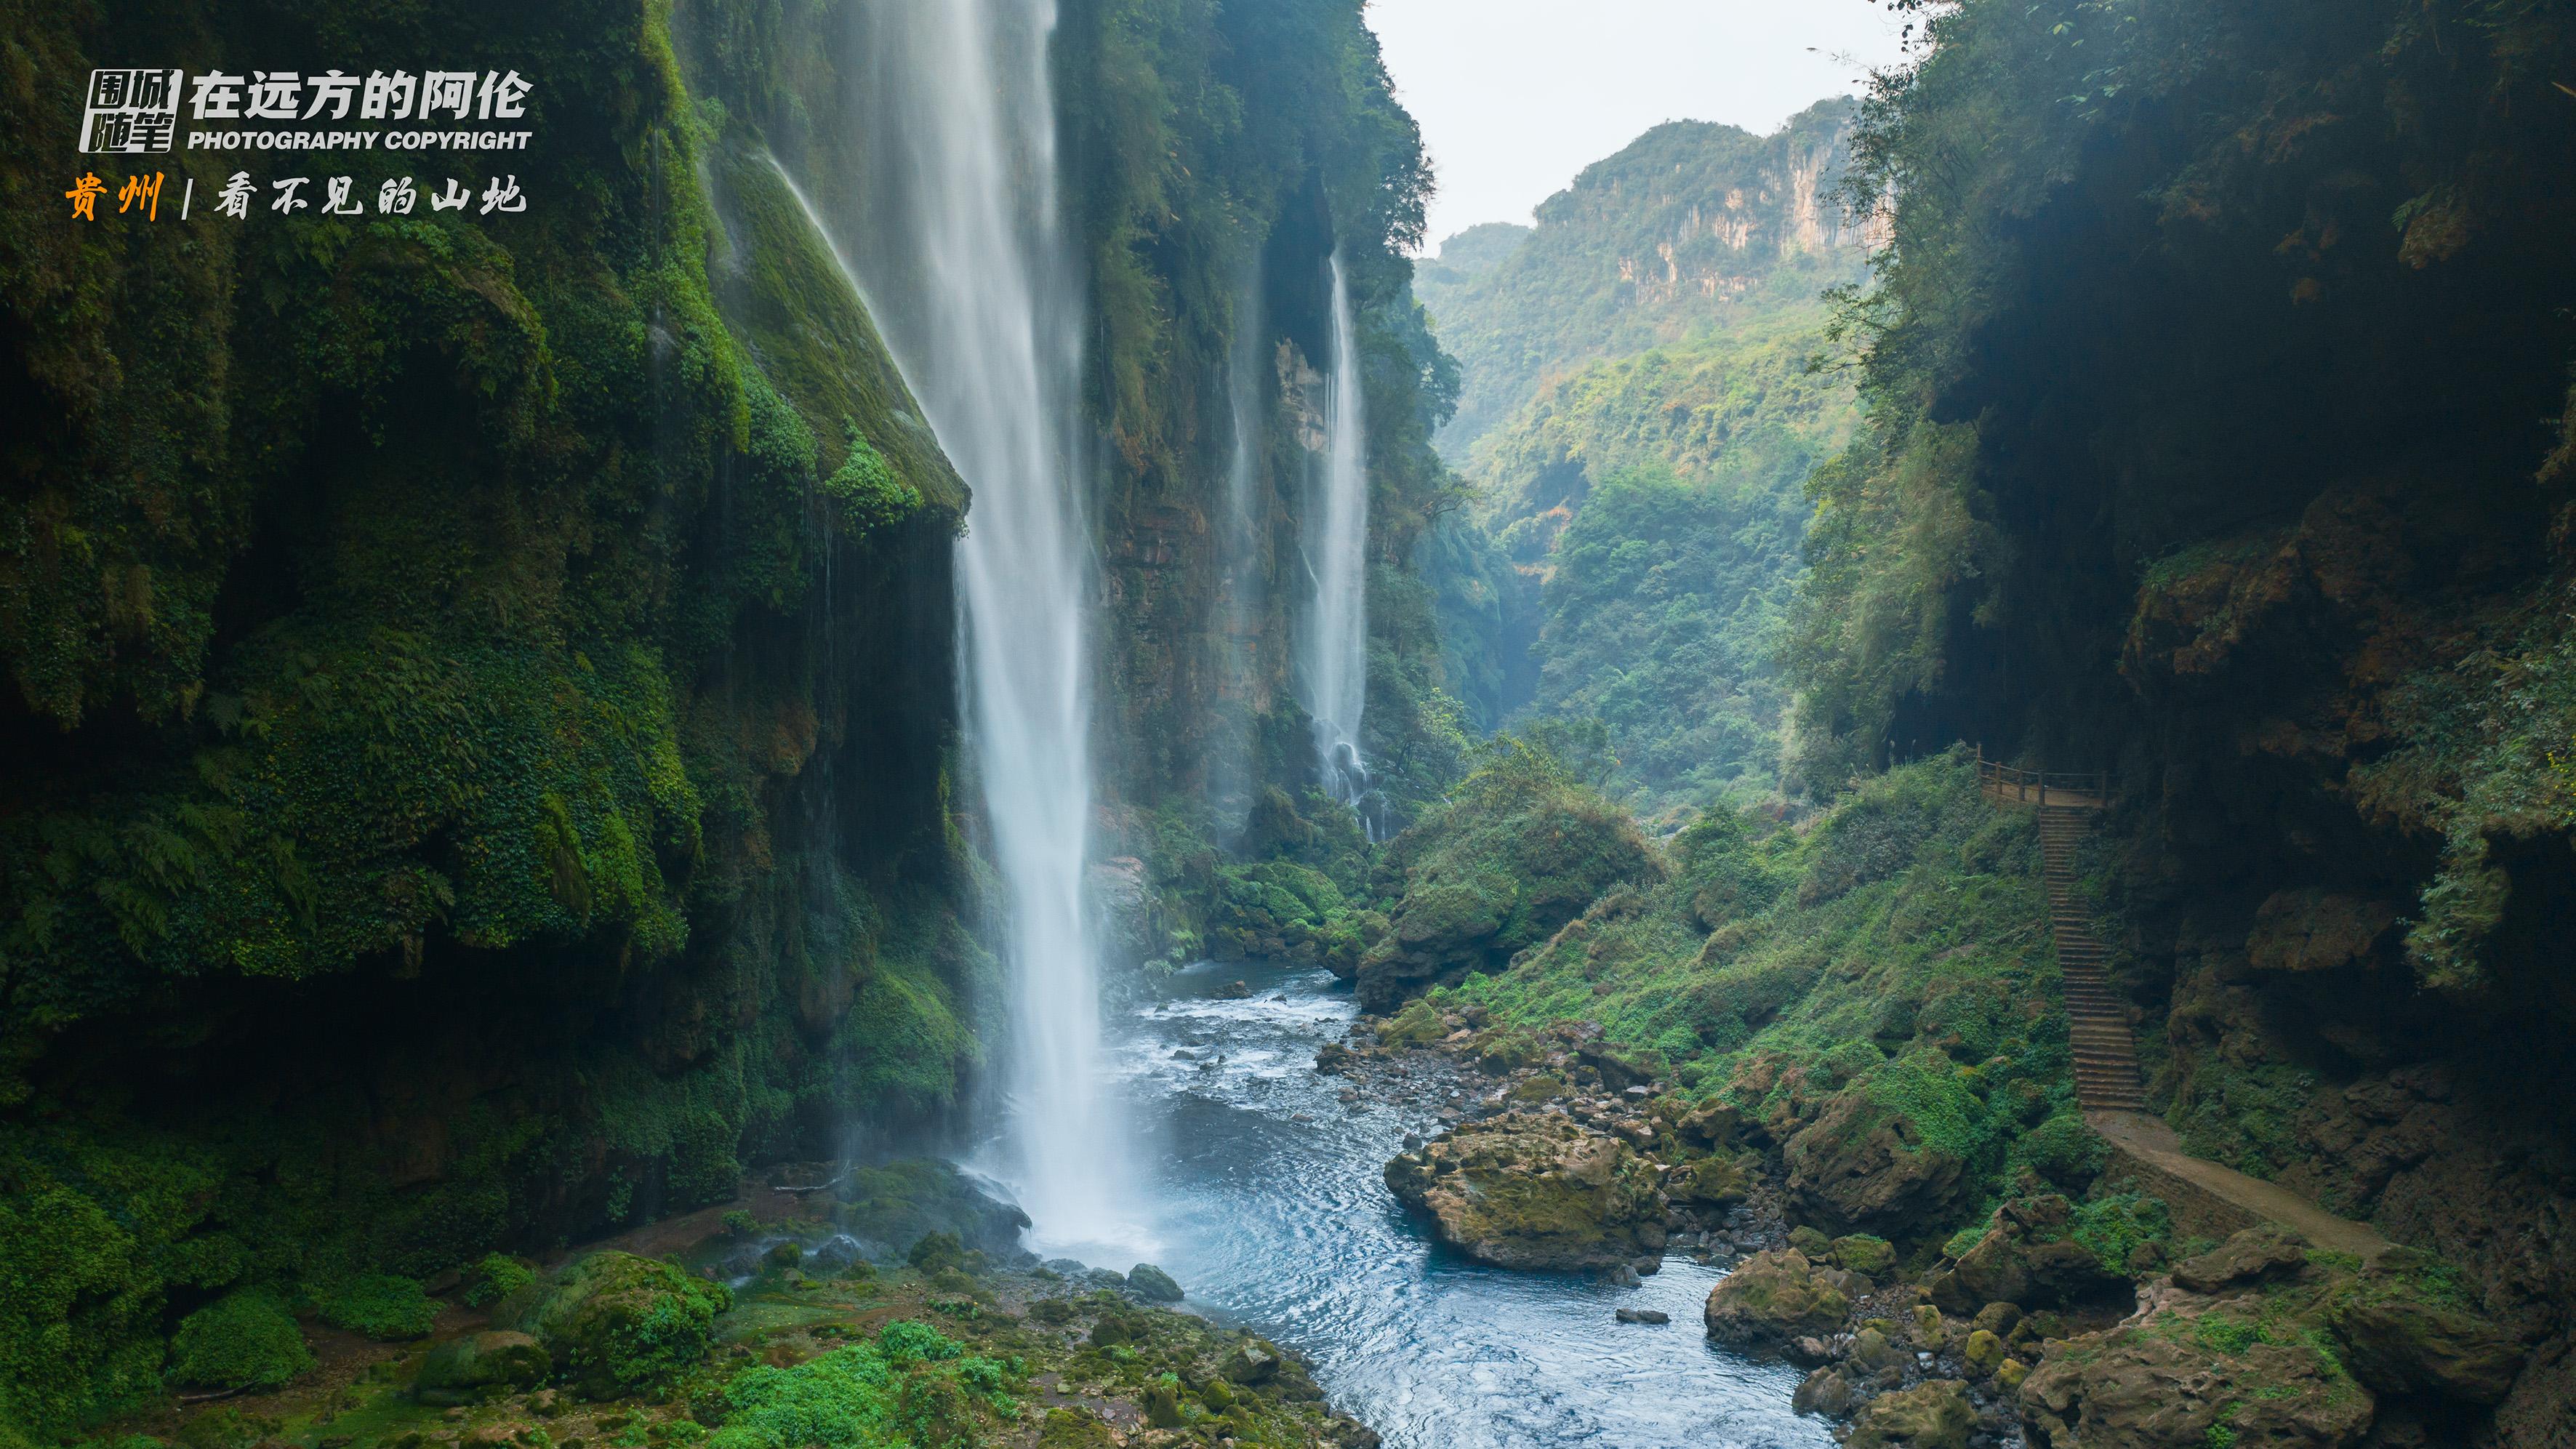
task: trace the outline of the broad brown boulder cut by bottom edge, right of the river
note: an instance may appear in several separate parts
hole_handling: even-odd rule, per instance
[[[2360,1441],[2375,1413],[2370,1392],[2303,1333],[2272,1338],[2184,1305],[2053,1341],[2022,1380],[2022,1426],[2043,1449]]]

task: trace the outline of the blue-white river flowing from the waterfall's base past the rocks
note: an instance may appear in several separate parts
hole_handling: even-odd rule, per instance
[[[1211,996],[1236,978],[1249,999]],[[1832,1446],[1788,1408],[1795,1369],[1708,1346],[1716,1269],[1669,1259],[1623,1289],[1432,1248],[1378,1176],[1430,1107],[1345,1107],[1342,1078],[1314,1071],[1352,1014],[1321,970],[1203,965],[1110,1024],[1131,1112],[1162,1145],[1154,1253],[1190,1307],[1309,1354],[1332,1403],[1394,1449]],[[1615,1323],[1618,1307],[1672,1323]]]

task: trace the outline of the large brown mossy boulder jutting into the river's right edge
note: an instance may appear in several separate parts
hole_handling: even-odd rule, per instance
[[[1432,1233],[1504,1269],[1607,1269],[1664,1248],[1664,1194],[1636,1150],[1553,1112],[1512,1112],[1386,1163]]]

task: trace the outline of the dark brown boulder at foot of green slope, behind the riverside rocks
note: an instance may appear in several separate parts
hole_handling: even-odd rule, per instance
[[[1788,1140],[1793,1217],[1834,1233],[1909,1233],[1968,1204],[1965,1163],[1865,1086],[1832,1096]]]

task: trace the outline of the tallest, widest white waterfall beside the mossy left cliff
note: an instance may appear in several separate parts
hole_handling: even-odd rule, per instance
[[[1002,883],[1010,1122],[1002,1176],[1048,1243],[1123,1238],[1123,1132],[1100,1071],[1082,288],[1056,201],[1051,0],[871,0],[848,257],[974,489],[958,679]]]

